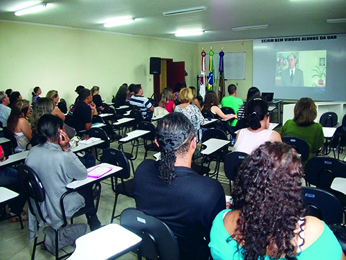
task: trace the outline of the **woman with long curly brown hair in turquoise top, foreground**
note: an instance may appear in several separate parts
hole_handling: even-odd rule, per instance
[[[212,258],[345,260],[331,229],[305,216],[301,180],[294,148],[278,142],[257,148],[239,170],[232,209],[212,223]]]

